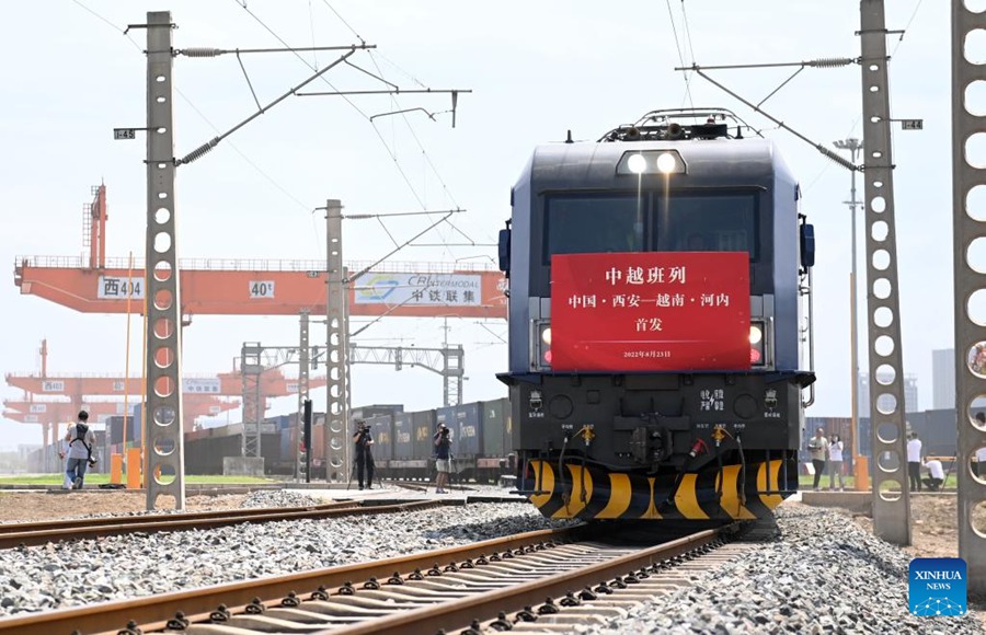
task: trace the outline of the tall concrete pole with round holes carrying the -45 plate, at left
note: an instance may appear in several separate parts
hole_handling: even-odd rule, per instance
[[[147,14],[147,508],[159,496],[185,508],[182,323],[174,205],[173,51],[170,11]]]

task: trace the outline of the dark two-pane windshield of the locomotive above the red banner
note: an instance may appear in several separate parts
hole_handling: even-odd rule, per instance
[[[543,263],[553,254],[640,251],[747,252],[755,262],[756,217],[755,192],[553,195]]]

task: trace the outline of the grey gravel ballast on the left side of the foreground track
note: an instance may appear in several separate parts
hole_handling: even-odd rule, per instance
[[[324,503],[291,492],[242,507]],[[563,527],[526,503],[128,534],[0,551],[0,616],[406,555]]]

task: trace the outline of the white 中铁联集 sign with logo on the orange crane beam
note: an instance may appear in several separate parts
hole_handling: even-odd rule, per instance
[[[356,278],[357,304],[480,307],[482,276],[471,274],[375,274]]]

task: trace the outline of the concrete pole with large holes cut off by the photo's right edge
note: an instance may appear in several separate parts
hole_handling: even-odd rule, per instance
[[[983,199],[978,193],[986,187],[986,173],[971,164],[982,158],[966,143],[983,135],[986,111],[983,100],[966,93],[974,83],[986,80],[986,66],[979,59],[970,60],[965,43],[974,32],[986,28],[986,14],[975,13],[966,2],[952,0],[952,251],[955,280],[955,407],[959,422],[959,557],[965,561],[968,594],[986,593],[986,538],[982,516],[978,531],[973,526],[974,511],[982,513],[986,501],[986,467],[978,463],[978,476],[972,470],[972,459],[978,448],[986,447],[986,426],[973,416],[973,402],[986,393],[986,371],[973,363],[979,345],[986,345],[986,316],[982,297],[986,279],[966,259],[966,254],[982,254],[982,240],[986,238],[983,218]],[[976,47],[970,49],[977,55]],[[977,161],[976,161],[977,162]],[[978,509],[977,509],[978,508]]]

